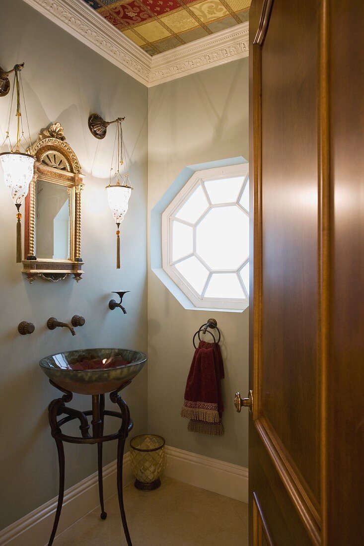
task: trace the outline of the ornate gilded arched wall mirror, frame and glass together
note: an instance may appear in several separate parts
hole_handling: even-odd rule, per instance
[[[83,271],[80,256],[81,191],[78,159],[67,144],[60,123],[39,134],[33,146],[34,176],[25,202],[27,280],[59,281]]]

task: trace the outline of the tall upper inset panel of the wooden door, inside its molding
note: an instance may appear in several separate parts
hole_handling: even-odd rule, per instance
[[[261,416],[315,508],[320,502],[317,11],[316,0],[275,0],[261,54]]]

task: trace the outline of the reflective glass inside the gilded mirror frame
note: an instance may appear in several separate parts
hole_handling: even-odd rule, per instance
[[[66,186],[37,180],[36,256],[39,259],[69,259],[69,194]]]

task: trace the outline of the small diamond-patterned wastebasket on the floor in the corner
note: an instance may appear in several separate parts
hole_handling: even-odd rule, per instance
[[[134,485],[142,491],[152,491],[161,485],[160,475],[165,466],[165,439],[155,434],[142,434],[130,441]]]

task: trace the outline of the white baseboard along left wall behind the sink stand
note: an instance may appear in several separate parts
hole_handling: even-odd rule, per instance
[[[122,468],[125,485],[133,479],[130,453],[124,455]],[[103,468],[104,498],[116,493],[116,461]],[[64,500],[57,535],[71,527],[99,506],[97,472],[64,491]],[[24,518],[0,531],[0,546],[41,546],[48,544],[57,507],[57,497],[52,498]]]

